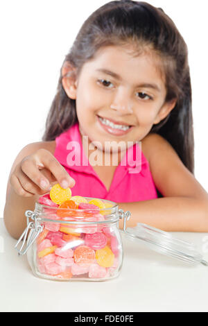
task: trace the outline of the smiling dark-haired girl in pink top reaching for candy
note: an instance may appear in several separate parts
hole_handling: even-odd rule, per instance
[[[103,154],[110,164],[90,164]],[[132,213],[128,226],[207,232],[208,194],[193,163],[187,45],[161,8],[111,1],[86,20],[64,60],[43,141],[17,155],[6,228],[18,238],[26,209],[58,182],[73,196],[119,203]]]

